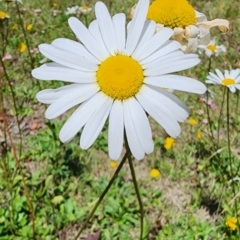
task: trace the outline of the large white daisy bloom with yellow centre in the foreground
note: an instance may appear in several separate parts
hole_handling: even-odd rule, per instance
[[[154,149],[146,112],[170,136],[180,134],[178,122],[188,117],[188,109],[163,88],[203,94],[203,83],[171,74],[191,68],[200,60],[196,54],[184,54],[178,42],[169,40],[171,29],[154,34],[156,23],[146,20],[148,6],[148,0],[139,1],[126,33],[125,14],[111,17],[106,6],[97,2],[96,20],[89,28],[77,18],[69,19],[81,43],[59,38],[39,46],[53,62],[34,69],[33,77],[72,83],[37,94],[40,102],[50,104],[46,118],[56,118],[78,106],[60,131],[62,142],[69,142],[83,128],[80,147],[88,149],[109,117],[110,158],[120,157],[125,131],[133,156],[143,159]]]

